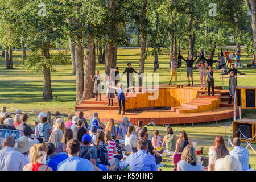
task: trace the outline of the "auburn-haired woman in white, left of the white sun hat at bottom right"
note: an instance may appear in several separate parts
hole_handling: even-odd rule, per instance
[[[214,155],[216,154],[216,149],[218,146],[225,146],[224,138],[220,135],[217,135],[214,141],[214,146],[209,148],[209,171],[214,171]]]

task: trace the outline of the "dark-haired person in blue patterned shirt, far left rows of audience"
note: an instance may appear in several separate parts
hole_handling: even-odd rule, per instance
[[[46,139],[46,142],[48,142],[52,130],[51,130],[51,126],[49,126],[46,122],[47,122],[47,117],[42,116],[40,118],[40,123],[35,127],[35,136],[44,137]]]

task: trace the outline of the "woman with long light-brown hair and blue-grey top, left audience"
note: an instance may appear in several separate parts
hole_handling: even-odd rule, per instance
[[[66,144],[61,142],[63,138],[63,132],[61,130],[56,130],[53,132],[51,139],[49,142],[53,143],[56,147],[56,152],[59,154],[60,152],[65,152]]]

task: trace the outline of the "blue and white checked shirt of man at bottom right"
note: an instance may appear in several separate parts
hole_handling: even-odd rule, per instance
[[[249,151],[246,148],[240,146],[234,147],[232,151],[229,152],[230,155],[234,156],[242,164],[243,171],[249,169]]]

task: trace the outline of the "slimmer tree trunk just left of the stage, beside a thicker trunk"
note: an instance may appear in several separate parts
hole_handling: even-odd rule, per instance
[[[75,63],[76,63],[76,104],[82,102],[82,93],[84,90],[84,48],[80,41],[75,43]]]

